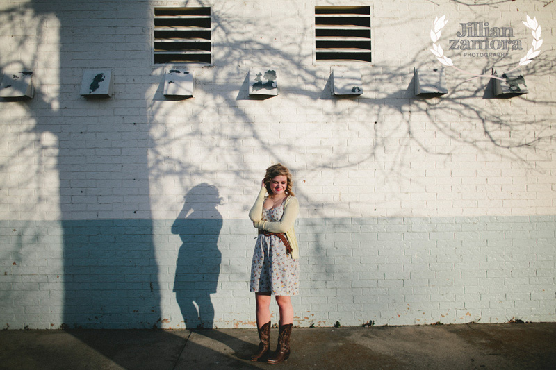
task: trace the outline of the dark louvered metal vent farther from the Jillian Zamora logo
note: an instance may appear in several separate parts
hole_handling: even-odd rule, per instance
[[[154,8],[154,62],[210,64],[211,8]]]

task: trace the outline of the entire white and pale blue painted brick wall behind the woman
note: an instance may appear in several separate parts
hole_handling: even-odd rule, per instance
[[[352,2],[371,6],[373,65],[347,65],[363,95],[338,99],[334,65],[313,62],[322,4],[188,2],[211,6],[214,62],[172,100],[153,8],[184,4],[1,5],[1,72],[31,69],[36,89],[0,101],[1,326],[254,326],[247,210],[274,162],[301,204],[301,326],[554,320],[553,4]],[[441,67],[428,49],[444,14],[445,54],[477,73],[516,65],[537,17],[530,92],[491,99],[487,78],[447,68],[449,94],[416,99],[414,67]],[[461,56],[461,22],[512,26],[524,49]],[[249,97],[259,66],[278,96]],[[79,96],[91,68],[113,70],[111,99]]]

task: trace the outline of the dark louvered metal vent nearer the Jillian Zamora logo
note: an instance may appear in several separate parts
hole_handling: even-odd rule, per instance
[[[371,62],[370,6],[316,6],[317,62]]]

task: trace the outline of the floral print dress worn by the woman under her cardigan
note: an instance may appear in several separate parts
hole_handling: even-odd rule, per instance
[[[278,207],[263,208],[263,221],[280,221],[284,202]],[[286,246],[275,235],[259,234],[251,264],[251,292],[270,292],[274,296],[294,296],[299,293],[300,265],[286,254]]]

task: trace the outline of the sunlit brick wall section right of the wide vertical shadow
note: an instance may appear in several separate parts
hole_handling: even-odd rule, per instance
[[[254,326],[247,210],[276,162],[293,170],[302,205],[300,325],[553,320],[553,51],[521,67],[528,94],[498,99],[489,78],[533,47],[528,15],[545,47],[555,42],[551,12],[345,5],[318,12],[370,7],[371,62],[316,59],[322,42],[334,46],[334,19],[316,19],[321,3],[188,3],[211,7],[212,63],[154,65],[145,94],[152,211],[157,230],[172,234],[156,242],[169,274],[164,325]],[[523,49],[450,48],[479,36],[464,35],[468,22],[482,33],[489,23],[495,38],[512,27]],[[432,30],[453,67],[430,51],[439,53]],[[163,95],[174,67],[193,74],[192,97]],[[254,67],[276,72],[276,96],[250,95]],[[333,96],[336,68],[360,72],[363,94]],[[414,71],[441,68],[448,94],[416,96]]]

